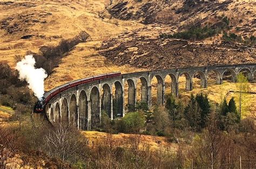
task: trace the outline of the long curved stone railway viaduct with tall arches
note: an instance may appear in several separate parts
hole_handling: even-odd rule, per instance
[[[177,97],[179,94],[178,81],[181,75],[186,77],[185,89],[192,90],[195,74],[200,76],[201,87],[206,88],[210,72],[215,73],[216,84],[222,84],[225,72],[230,72],[232,82],[235,82],[239,72],[247,72],[247,78],[252,82],[256,76],[254,75],[255,70],[256,64],[239,64],[93,76],[58,86],[46,92],[43,113],[53,125],[60,121],[67,121],[75,124],[80,130],[96,129],[100,124],[103,111],[111,119],[117,116],[124,117],[125,112],[134,111],[137,94],[139,94],[141,102],[147,103],[150,108],[152,106],[151,81],[154,77],[158,82],[157,104],[163,105],[166,95],[164,82],[168,76],[171,78],[171,92]],[[138,83],[141,87],[137,91]],[[128,84],[127,92],[124,92],[125,84]],[[129,106],[125,108],[125,96],[127,98],[127,95]]]

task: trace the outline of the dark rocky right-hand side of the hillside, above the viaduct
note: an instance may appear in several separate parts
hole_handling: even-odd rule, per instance
[[[225,42],[223,32],[240,42],[255,37],[255,3],[204,3],[143,1],[119,2],[109,7],[111,15],[144,23],[144,28],[106,40],[100,54],[122,65],[144,69],[184,66],[255,63],[255,45]],[[234,14],[235,13],[235,14]],[[194,40],[166,38],[191,27],[218,31],[212,37]],[[203,34],[202,32],[201,34]],[[163,37],[159,37],[163,35]],[[166,35],[166,36],[165,36]],[[199,34],[200,35],[200,34]],[[185,35],[188,36],[188,35]],[[161,62],[165,60],[165,62]]]

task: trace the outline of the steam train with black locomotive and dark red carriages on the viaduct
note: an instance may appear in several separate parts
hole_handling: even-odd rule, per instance
[[[120,76],[120,75],[121,75],[120,72],[107,73],[104,75],[98,75],[98,76],[93,76],[93,77],[89,77],[89,78],[75,80],[73,82],[66,83],[61,86],[55,87],[54,89],[50,90],[49,92],[44,93],[43,98],[41,100],[39,99],[37,101],[36,105],[34,106],[33,112],[34,113],[45,112],[45,105],[47,105],[53,97],[57,96],[59,93],[65,91],[65,90],[70,89],[71,87],[76,87],[76,86],[90,83],[90,82],[93,82],[96,80],[102,80],[105,78],[116,77],[116,76]]]

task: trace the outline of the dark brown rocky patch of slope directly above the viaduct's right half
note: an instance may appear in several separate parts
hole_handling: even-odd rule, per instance
[[[131,38],[126,40],[126,37]],[[132,51],[130,49],[133,49]],[[255,63],[255,48],[233,43],[189,44],[185,40],[124,35],[103,43],[100,54],[121,65],[144,69]],[[163,62],[164,60],[164,62]]]

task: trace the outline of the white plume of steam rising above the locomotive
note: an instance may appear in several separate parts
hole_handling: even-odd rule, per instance
[[[26,80],[35,96],[38,99],[42,99],[44,94],[44,79],[47,77],[47,74],[42,68],[36,69],[35,63],[35,58],[32,55],[27,55],[21,62],[17,63],[15,69],[19,71],[19,79]]]

